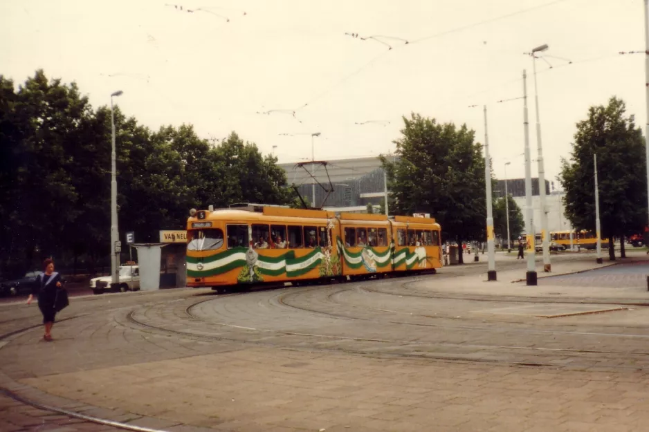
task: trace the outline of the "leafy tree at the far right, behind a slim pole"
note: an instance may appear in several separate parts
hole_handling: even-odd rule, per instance
[[[641,232],[647,220],[644,140],[626,104],[611,97],[607,106],[591,106],[577,123],[569,160],[562,160],[559,182],[565,189],[565,216],[576,229],[595,230],[594,160],[597,155],[602,238],[623,243],[628,232]],[[624,257],[624,255],[622,255]]]

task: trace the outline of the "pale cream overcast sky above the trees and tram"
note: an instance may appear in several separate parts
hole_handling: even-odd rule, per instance
[[[537,66],[554,180],[589,106],[617,95],[645,124],[644,55],[619,55],[644,50],[643,26],[641,0],[4,0],[0,73],[21,83],[43,68],[77,82],[95,107],[120,89],[120,108],[152,129],[237,131],[264,153],[277,146],[280,162],[311,158],[313,132],[322,133],[316,160],[394,151],[411,111],[466,122],[483,142],[487,104],[494,171],[503,178],[509,158],[515,178],[524,176],[522,100],[496,101],[522,96],[527,69],[536,155],[523,53],[549,44],[554,68]],[[288,111],[257,113],[270,110]]]

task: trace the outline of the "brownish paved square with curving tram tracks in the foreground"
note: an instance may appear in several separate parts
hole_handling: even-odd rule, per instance
[[[555,256],[553,274],[592,258]],[[166,431],[646,429],[646,288],[580,286],[596,272],[530,288],[512,283],[524,263],[498,265],[497,283],[483,282],[483,262],[221,296],[80,297],[52,343],[36,308],[2,305],[0,388]],[[5,417],[2,431],[113,430],[0,395]]]

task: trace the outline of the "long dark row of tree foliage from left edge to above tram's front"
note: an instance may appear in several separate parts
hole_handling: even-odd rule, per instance
[[[114,115],[119,229],[137,241],[183,229],[191,207],[293,200],[277,159],[234,132],[213,147],[188,124],[151,131]],[[0,270],[109,255],[110,158],[109,107],[40,70],[18,88],[0,75]]]

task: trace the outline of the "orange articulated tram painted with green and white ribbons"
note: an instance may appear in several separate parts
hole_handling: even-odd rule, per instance
[[[190,215],[187,285],[194,288],[357,280],[442,266],[433,218],[264,205]]]

